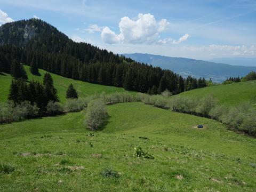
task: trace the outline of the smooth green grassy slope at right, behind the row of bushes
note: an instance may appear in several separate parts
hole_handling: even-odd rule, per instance
[[[256,81],[233,83],[195,89],[180,93],[181,96],[201,98],[213,94],[219,103],[237,105],[238,103],[256,103]]]

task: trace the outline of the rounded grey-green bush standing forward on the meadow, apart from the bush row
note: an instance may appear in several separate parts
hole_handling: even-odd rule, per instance
[[[84,124],[90,130],[97,130],[106,122],[107,116],[108,114],[105,103],[100,99],[92,100],[89,102],[86,109]]]

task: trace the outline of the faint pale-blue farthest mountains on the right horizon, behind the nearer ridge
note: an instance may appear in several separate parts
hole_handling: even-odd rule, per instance
[[[217,62],[217,63],[226,63],[229,65],[235,66],[256,66],[256,58],[215,58],[207,61]]]

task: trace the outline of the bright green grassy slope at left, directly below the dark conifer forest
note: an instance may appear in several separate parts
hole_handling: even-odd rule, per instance
[[[32,75],[29,71],[29,66],[25,66],[27,75],[29,79],[35,79],[40,82],[43,82],[43,76],[46,73],[45,70],[39,69],[39,73],[41,76],[35,76]],[[86,97],[87,95],[91,95],[94,93],[102,93],[105,92],[106,94],[109,93],[114,93],[114,92],[124,92],[125,90],[121,87],[114,87],[114,86],[103,86],[99,84],[92,84],[92,83],[87,83],[87,82],[82,82],[82,81],[76,81],[74,79],[66,78],[66,77],[61,77],[59,75],[51,74],[53,78],[53,83],[55,88],[58,90],[58,94],[60,97],[61,102],[65,102],[66,98],[66,91],[67,87],[70,83],[72,83],[75,88],[78,91],[78,96],[83,98]],[[9,74],[5,75],[0,75],[0,102],[6,101],[7,100],[7,95],[9,93],[9,86],[11,84],[12,77]]]

